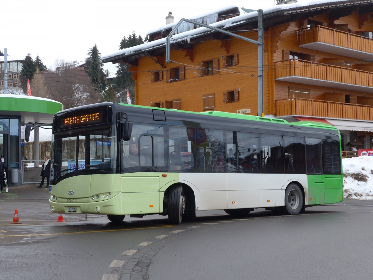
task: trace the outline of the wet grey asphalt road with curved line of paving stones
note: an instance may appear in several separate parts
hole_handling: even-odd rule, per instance
[[[63,215],[35,185],[0,194],[0,279],[371,279],[373,201],[347,199],[296,216],[197,212],[167,217]],[[19,222],[11,224],[15,209]]]

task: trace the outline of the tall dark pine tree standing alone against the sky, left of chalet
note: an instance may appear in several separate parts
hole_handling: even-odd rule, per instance
[[[85,63],[88,69],[88,77],[91,79],[92,86],[97,88],[99,91],[104,90],[102,84],[104,80],[103,63],[101,59],[101,53],[98,52],[96,44],[89,50],[88,58],[85,59]]]

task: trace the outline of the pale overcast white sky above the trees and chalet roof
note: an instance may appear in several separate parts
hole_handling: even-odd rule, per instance
[[[299,2],[301,2],[300,0]],[[96,44],[101,56],[119,50],[124,36],[135,31],[145,37],[147,32],[166,25],[172,12],[174,22],[193,18],[230,5],[247,9],[266,9],[275,0],[170,1],[155,5],[151,1],[126,0],[18,0],[1,4],[0,50],[8,56],[24,58],[29,53],[35,60],[39,55],[47,68],[54,69],[56,60],[84,61]],[[198,3],[198,4],[197,4]],[[104,70],[115,74],[113,63]]]

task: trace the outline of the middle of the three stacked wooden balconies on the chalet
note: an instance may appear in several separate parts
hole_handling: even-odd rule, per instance
[[[276,80],[373,93],[373,72],[289,59],[275,62]]]

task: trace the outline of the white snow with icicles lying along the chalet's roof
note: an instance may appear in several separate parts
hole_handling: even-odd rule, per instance
[[[270,16],[275,16],[278,13],[282,14],[290,14],[290,13],[297,13],[300,11],[305,11],[305,10],[312,10],[312,9],[318,9],[320,7],[334,7],[338,5],[351,5],[351,4],[362,4],[362,3],[373,3],[372,0],[362,0],[362,1],[351,1],[351,0],[313,0],[313,1],[302,1],[302,2],[297,2],[293,4],[282,4],[282,5],[277,5],[274,7],[270,7],[267,9],[263,9],[263,16],[264,18],[268,18]],[[222,12],[227,9],[232,9],[235,8],[236,6],[228,6],[224,7],[222,9],[218,10],[213,10],[208,13],[204,13],[200,15],[199,17],[206,17],[206,15],[211,15],[211,13],[216,13],[216,12]],[[246,13],[244,10],[242,10],[239,7],[236,7],[239,9],[240,15],[235,16],[233,18],[225,19],[223,21],[219,22],[214,22],[212,24],[209,24],[212,27],[216,28],[228,28],[237,24],[241,24],[246,21],[252,21],[258,17],[258,12],[250,12]],[[197,17],[195,17],[197,18]],[[154,29],[150,31],[151,33],[154,33],[156,31],[162,31],[165,29],[168,29],[170,27],[175,27],[177,23],[170,25],[164,25],[158,29]],[[185,22],[186,24],[186,22]],[[199,27],[193,30],[181,32],[179,34],[175,34],[172,36],[173,39],[175,40],[170,40],[170,44],[175,44],[178,43],[178,41],[186,41],[187,43],[190,42],[190,40],[193,40],[194,38],[198,37],[199,35],[202,35],[207,32],[212,32],[211,29],[206,28],[206,27]],[[178,41],[176,41],[178,40]],[[166,46],[166,38],[162,38],[159,40],[147,42],[138,46],[134,47],[129,47],[127,49],[123,49],[120,51],[117,51],[115,53],[112,53],[110,55],[103,56],[103,62],[109,62],[112,60],[115,60],[116,57],[123,57],[123,56],[128,56],[137,52],[145,51],[145,50],[151,50],[159,47]],[[105,61],[106,60],[106,61]]]

